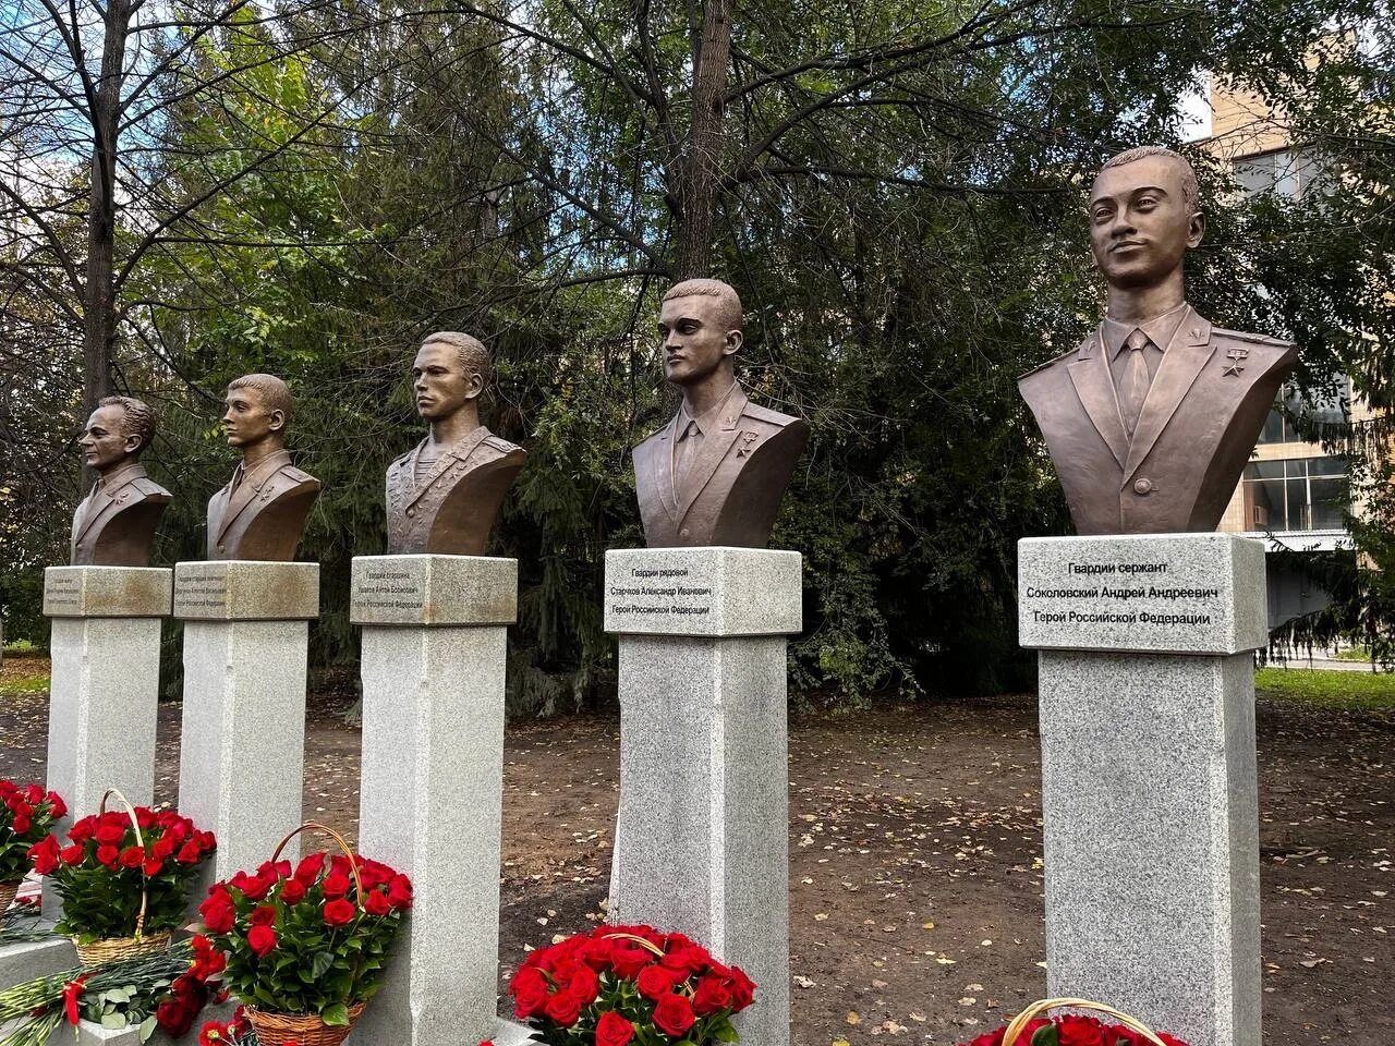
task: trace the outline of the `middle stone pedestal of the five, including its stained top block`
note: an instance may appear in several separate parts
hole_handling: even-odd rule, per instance
[[[350,1043],[459,1046],[498,1025],[504,671],[518,561],[354,556],[359,849],[412,876],[388,982]]]

